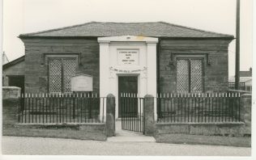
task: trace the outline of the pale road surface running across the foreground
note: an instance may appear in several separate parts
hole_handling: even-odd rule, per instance
[[[250,156],[251,149],[220,145],[178,145],[151,141],[83,141],[43,137],[2,137],[2,154]]]

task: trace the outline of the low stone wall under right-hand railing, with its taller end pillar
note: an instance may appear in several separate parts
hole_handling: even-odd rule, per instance
[[[212,122],[212,123],[156,123],[156,141],[169,141],[170,135],[202,135],[202,136],[251,136],[251,95],[241,95],[240,122]],[[167,139],[164,139],[167,138]],[[169,141],[170,142],[170,141]]]

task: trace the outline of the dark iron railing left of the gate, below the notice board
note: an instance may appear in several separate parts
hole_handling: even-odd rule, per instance
[[[100,123],[100,104],[105,97],[96,94],[24,94],[20,98],[20,123]]]

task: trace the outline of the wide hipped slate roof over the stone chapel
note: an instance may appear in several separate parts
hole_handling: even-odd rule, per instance
[[[70,27],[61,27],[43,32],[33,32],[19,35],[23,37],[101,37],[101,36],[152,36],[152,37],[194,37],[194,38],[229,38],[226,35],[215,32],[207,32],[192,27],[184,27],[172,23],[102,23],[90,22]]]

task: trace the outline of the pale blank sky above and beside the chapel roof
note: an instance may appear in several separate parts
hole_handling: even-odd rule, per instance
[[[241,70],[252,66],[252,0],[241,0]],[[236,0],[3,0],[3,51],[9,61],[24,55],[21,33],[91,21],[164,21],[236,36]],[[235,74],[235,40],[228,74]]]

